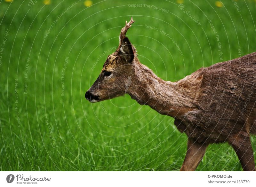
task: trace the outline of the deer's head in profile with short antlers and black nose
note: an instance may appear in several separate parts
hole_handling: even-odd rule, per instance
[[[85,93],[85,98],[90,102],[98,102],[124,95],[134,76],[134,59],[137,58],[136,49],[125,34],[135,22],[132,19],[122,28],[119,36],[117,50],[108,55],[99,77],[91,88]]]

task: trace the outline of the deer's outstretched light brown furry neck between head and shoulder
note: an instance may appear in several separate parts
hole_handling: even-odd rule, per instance
[[[148,67],[138,64],[135,78],[131,80],[127,93],[141,105],[149,105],[158,113],[178,117],[194,110],[193,96],[179,82],[164,81]],[[190,88],[191,89],[191,88]]]

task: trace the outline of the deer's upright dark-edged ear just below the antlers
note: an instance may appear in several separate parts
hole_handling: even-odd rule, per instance
[[[134,52],[132,50],[132,44],[127,37],[125,37],[121,43],[118,56],[128,63],[131,63],[134,58]]]

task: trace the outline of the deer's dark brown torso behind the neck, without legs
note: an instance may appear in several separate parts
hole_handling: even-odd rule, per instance
[[[193,101],[196,110],[175,124],[181,123],[181,131],[201,141],[208,137],[210,142],[224,142],[240,131],[256,133],[255,75],[256,52],[197,70],[186,78],[201,79]]]

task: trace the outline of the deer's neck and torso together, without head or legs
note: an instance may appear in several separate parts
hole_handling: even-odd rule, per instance
[[[201,68],[178,82],[163,81],[139,66],[146,76],[130,85],[131,97],[174,117],[177,128],[197,142],[220,143],[239,132],[256,133],[256,52]]]

